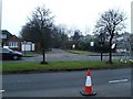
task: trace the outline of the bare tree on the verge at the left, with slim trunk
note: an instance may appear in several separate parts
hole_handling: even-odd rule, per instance
[[[53,16],[50,16],[50,9],[45,9],[43,7],[38,7],[35,11],[32,12],[32,16],[30,20],[30,26],[35,29],[35,32],[40,35],[40,44],[43,55],[43,62],[41,64],[45,64],[45,50],[50,46],[50,37],[51,37],[51,29]]]

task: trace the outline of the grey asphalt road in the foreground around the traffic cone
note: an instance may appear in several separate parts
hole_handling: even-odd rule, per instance
[[[3,75],[3,97],[83,97],[85,77],[86,70]],[[92,82],[94,97],[131,97],[130,68],[92,70]]]

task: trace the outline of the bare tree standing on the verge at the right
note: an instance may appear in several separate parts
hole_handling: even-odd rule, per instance
[[[109,63],[112,63],[112,40],[115,33],[119,33],[123,29],[125,29],[124,21],[126,20],[125,14],[119,10],[109,10],[101,14],[100,20],[95,25],[96,33],[104,33],[104,35],[109,35],[110,42],[110,58]]]

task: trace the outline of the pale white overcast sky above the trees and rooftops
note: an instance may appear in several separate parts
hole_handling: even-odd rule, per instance
[[[100,14],[109,9],[120,9],[125,12],[126,31],[131,30],[132,0],[2,0],[2,30],[19,35],[28,16],[38,7],[44,4],[55,16],[55,24],[66,25],[69,29],[93,31]]]

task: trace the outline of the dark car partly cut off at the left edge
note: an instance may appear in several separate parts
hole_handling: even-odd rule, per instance
[[[10,48],[3,48],[0,47],[0,56],[2,56],[2,61],[4,59],[21,59],[22,57],[22,53],[17,52],[17,51],[12,51]]]

